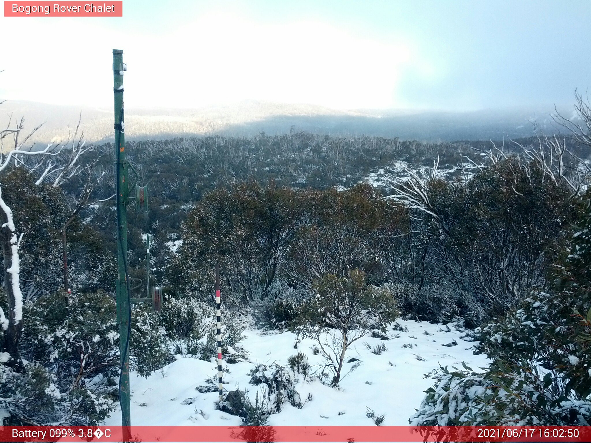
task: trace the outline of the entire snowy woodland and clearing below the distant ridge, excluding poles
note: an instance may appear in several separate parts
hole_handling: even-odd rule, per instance
[[[591,425],[575,110],[515,140],[129,142],[150,195],[128,212],[132,296],[147,266],[164,296],[132,309],[134,424]],[[0,418],[121,424],[113,146],[82,122],[31,148],[25,123],[0,131]]]

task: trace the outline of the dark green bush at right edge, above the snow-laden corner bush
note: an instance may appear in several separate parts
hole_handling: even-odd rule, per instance
[[[532,294],[484,327],[480,344],[493,358],[524,360],[550,373],[557,398],[564,401],[591,394],[590,212],[586,200],[582,227],[554,269],[556,289]]]

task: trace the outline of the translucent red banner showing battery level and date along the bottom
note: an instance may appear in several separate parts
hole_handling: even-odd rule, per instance
[[[585,442],[591,426],[0,426],[4,442]]]

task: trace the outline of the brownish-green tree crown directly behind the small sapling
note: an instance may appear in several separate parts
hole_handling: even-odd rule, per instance
[[[310,288],[323,275],[343,277],[353,269],[362,269],[370,282],[384,282],[382,255],[391,236],[404,230],[404,210],[369,185],[303,191],[297,202],[289,260],[282,266],[291,285]]]

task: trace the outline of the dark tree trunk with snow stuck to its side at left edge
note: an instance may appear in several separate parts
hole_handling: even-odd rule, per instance
[[[5,221],[5,217],[2,217]],[[22,320],[16,321],[15,318],[15,297],[12,289],[12,274],[9,272],[12,266],[12,237],[14,233],[4,226],[0,229],[0,242],[2,243],[2,253],[4,253],[4,291],[8,301],[8,328],[4,331],[4,340],[2,340],[1,351],[8,353],[10,358],[5,362],[7,366],[21,372],[23,369],[21,356],[18,353],[18,341],[22,333]]]

